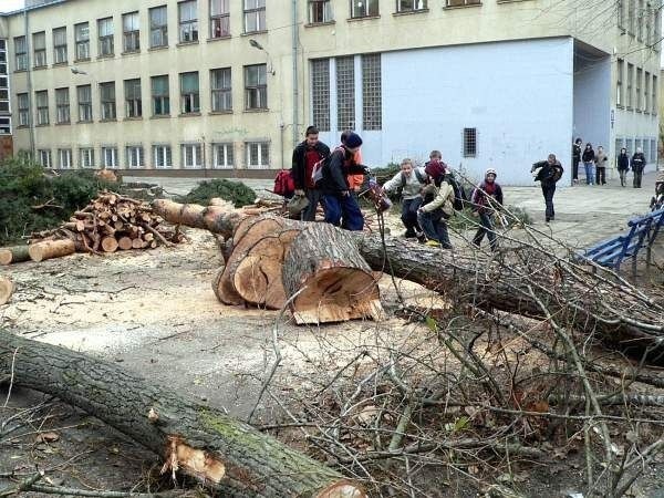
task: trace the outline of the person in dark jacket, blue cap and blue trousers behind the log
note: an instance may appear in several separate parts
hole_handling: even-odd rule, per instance
[[[362,230],[364,216],[355,198],[351,195],[347,175],[363,170],[355,165],[355,153],[362,145],[362,138],[356,133],[349,133],[341,147],[334,149],[330,159],[323,166],[323,177],[319,188],[323,194],[325,221],[339,227],[342,225],[347,230]]]

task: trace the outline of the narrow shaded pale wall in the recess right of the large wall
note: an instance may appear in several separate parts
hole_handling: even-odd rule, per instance
[[[574,69],[574,139],[611,149],[611,60],[585,61]]]

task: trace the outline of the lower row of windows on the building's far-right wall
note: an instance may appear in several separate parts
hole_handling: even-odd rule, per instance
[[[627,62],[627,72],[625,74],[625,61],[618,60],[615,79],[615,105],[643,112],[646,114],[657,114],[657,95],[660,86],[657,76],[635,68]],[[626,81],[626,84],[623,82]]]

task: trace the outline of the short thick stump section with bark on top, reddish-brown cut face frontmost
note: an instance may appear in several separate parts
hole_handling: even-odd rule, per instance
[[[295,322],[324,323],[382,315],[378,284],[347,231],[308,224],[283,262]]]

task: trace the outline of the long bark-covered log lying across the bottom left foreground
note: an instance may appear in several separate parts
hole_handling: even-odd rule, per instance
[[[14,357],[15,356],[15,357]],[[0,375],[96,416],[228,497],[366,495],[338,471],[219,409],[117,365],[0,330]]]

